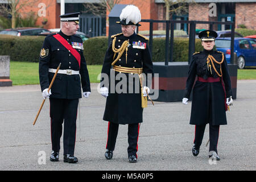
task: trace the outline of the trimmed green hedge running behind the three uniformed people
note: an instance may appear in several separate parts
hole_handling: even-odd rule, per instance
[[[0,55],[10,55],[12,61],[38,62],[44,36],[0,35]],[[152,60],[164,61],[165,38],[154,38]],[[84,42],[84,56],[88,65],[102,64],[108,49],[108,37],[100,36]],[[196,39],[195,51],[201,51],[200,39]],[[188,38],[174,38],[174,61],[188,61]]]

